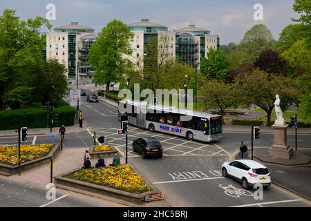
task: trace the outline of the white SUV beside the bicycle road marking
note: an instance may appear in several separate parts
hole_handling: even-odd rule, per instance
[[[228,175],[242,182],[244,189],[249,189],[249,186],[261,184],[266,189],[271,185],[271,177],[267,167],[253,160],[234,160],[225,162],[221,166],[223,176]]]

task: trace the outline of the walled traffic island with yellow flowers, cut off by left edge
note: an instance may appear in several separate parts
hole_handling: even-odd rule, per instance
[[[10,176],[46,164],[59,151],[58,144],[21,145],[19,169],[18,146],[0,146],[0,175]]]

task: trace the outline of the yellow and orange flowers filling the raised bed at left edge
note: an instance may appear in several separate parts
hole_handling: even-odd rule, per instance
[[[52,148],[52,144],[21,145],[21,163],[44,157]],[[13,166],[18,164],[18,149],[18,146],[0,146],[0,163]]]

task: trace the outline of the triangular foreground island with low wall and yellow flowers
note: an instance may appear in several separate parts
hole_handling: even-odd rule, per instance
[[[149,201],[150,206],[169,206],[156,186],[129,165],[75,169],[54,178],[57,188],[96,198],[115,199],[130,206],[144,206]]]

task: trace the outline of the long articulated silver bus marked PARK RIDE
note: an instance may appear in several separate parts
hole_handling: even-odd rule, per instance
[[[120,108],[118,108],[120,121],[125,117],[129,124],[149,129],[151,132],[169,133],[186,137],[188,140],[200,140],[202,142],[212,142],[222,137],[221,115],[187,111],[172,106],[148,106],[147,102],[121,101],[119,105],[124,108],[124,113],[120,113]],[[146,111],[138,111],[142,105],[146,107]],[[192,116],[189,117],[191,120],[181,121],[180,117],[186,115]]]

